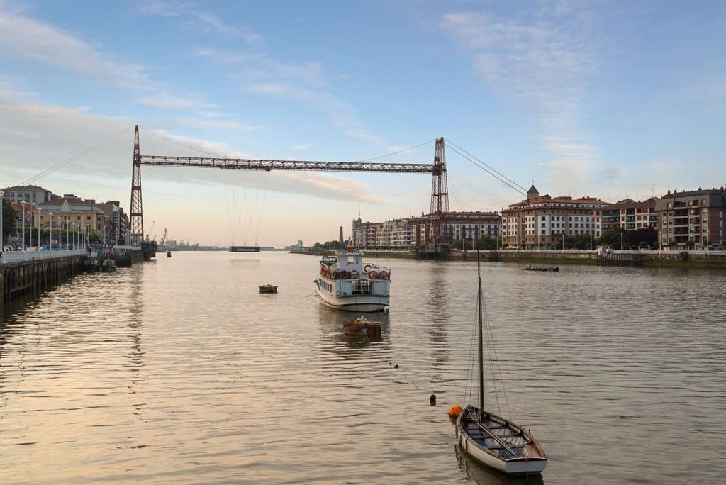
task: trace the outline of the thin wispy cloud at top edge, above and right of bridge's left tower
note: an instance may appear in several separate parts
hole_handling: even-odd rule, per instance
[[[162,17],[184,17],[193,20],[200,30],[205,33],[219,33],[227,36],[237,36],[248,42],[258,42],[263,39],[246,25],[231,25],[219,15],[197,9],[189,1],[150,1],[139,9],[140,12]]]

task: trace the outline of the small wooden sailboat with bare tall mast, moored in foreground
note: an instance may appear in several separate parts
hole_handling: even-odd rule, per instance
[[[510,420],[484,409],[484,338],[482,325],[481,267],[476,254],[478,277],[479,405],[461,409],[456,436],[471,457],[510,475],[537,475],[547,465],[547,455],[531,433]],[[452,408],[454,409],[454,408]],[[457,409],[457,410],[458,410]]]

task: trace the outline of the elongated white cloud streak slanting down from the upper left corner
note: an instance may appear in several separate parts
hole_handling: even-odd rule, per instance
[[[150,89],[141,66],[109,60],[99,49],[0,3],[0,49],[124,89]]]

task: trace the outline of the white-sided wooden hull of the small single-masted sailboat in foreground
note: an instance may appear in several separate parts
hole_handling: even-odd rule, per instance
[[[466,412],[466,410],[465,410]],[[507,473],[508,475],[514,476],[530,476],[539,475],[544,471],[544,467],[547,465],[547,457],[544,452],[539,448],[539,444],[529,434],[524,433],[518,425],[511,423],[509,420],[505,420],[503,417],[493,415],[492,413],[486,413],[489,417],[494,420],[499,420],[502,424],[507,426],[507,431],[520,431],[523,433],[523,437],[529,439],[530,442],[524,445],[529,449],[530,455],[527,457],[501,457],[496,453],[492,452],[482,443],[491,442],[489,439],[476,439],[476,436],[471,436],[468,431],[465,430],[465,412],[457,418],[457,441],[464,451],[473,459],[481,462],[492,468],[496,468],[499,471]],[[541,456],[536,456],[541,455]]]

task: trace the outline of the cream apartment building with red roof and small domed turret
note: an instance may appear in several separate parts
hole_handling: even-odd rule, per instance
[[[502,211],[502,242],[513,249],[556,249],[561,247],[563,237],[597,237],[597,214],[607,205],[611,204],[595,197],[540,197],[532,185],[526,200]]]

